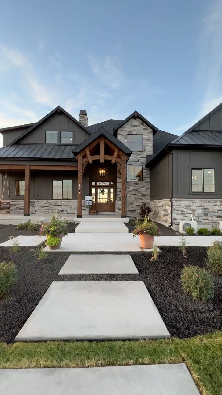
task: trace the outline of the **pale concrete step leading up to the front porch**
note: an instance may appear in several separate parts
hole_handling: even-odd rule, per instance
[[[128,233],[128,228],[122,222],[90,221],[81,222],[75,228],[75,233]]]

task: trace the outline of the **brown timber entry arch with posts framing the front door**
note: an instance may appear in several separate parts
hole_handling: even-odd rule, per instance
[[[76,156],[78,160],[78,181],[77,181],[77,217],[81,218],[83,214],[83,173],[87,164],[92,164],[94,160],[99,160],[104,163],[105,160],[110,160],[111,164],[117,164],[121,175],[121,214],[122,218],[126,218],[126,161],[128,156],[125,152],[120,150],[115,144],[104,136],[98,137],[88,147],[85,147]]]

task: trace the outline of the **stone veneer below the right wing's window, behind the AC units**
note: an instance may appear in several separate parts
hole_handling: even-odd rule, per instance
[[[210,211],[214,211],[213,225],[216,227],[217,221],[222,220],[220,212],[222,212],[222,199],[172,199],[173,202],[173,225],[179,221],[198,220],[198,228],[212,228],[212,218],[208,215]],[[203,212],[204,216],[195,216],[196,211]]]

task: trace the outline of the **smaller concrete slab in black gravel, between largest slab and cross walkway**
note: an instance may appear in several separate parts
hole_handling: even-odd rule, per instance
[[[129,254],[71,254],[58,274],[139,274]]]

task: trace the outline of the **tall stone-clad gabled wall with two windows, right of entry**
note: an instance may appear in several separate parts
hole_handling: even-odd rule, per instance
[[[130,119],[118,130],[117,138],[127,145],[128,134],[143,135],[143,151],[133,151],[127,165],[143,165],[143,181],[126,181],[126,215],[139,216],[139,206],[150,200],[150,169],[145,167],[147,155],[152,155],[152,129],[138,117]],[[121,213],[121,177],[117,173],[116,213]]]

